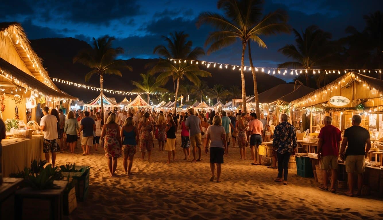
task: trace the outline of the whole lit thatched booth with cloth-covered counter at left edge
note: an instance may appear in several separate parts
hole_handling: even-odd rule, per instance
[[[0,117],[7,139],[2,141],[1,171],[4,177],[43,159],[43,136],[34,135],[41,108],[67,112],[77,98],[56,87],[18,23],[0,23]]]

